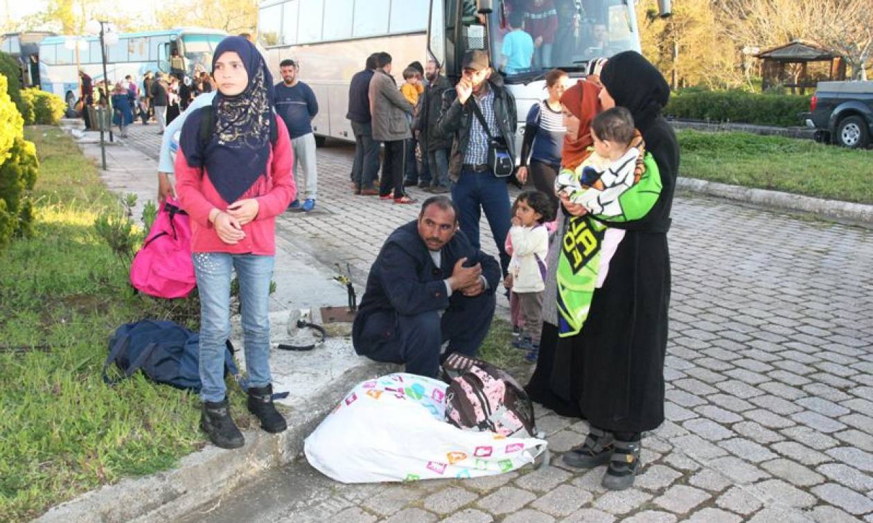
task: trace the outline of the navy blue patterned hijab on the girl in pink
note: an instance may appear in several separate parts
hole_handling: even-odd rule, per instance
[[[224,38],[212,56],[212,70],[225,52],[243,60],[249,83],[237,96],[218,90],[211,107],[191,114],[182,126],[179,145],[189,166],[204,168],[225,202],[239,196],[266,173],[270,159],[270,126],[273,106],[272,75],[258,49],[242,37]],[[200,142],[204,111],[215,114],[215,128],[208,143]]]

